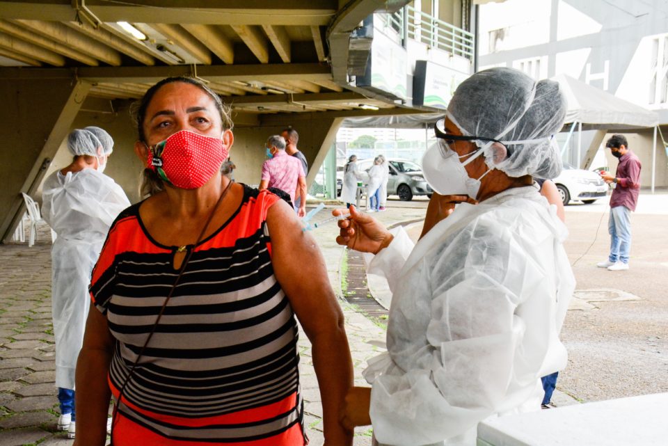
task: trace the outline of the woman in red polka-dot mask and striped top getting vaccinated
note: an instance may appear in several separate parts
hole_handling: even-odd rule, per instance
[[[326,445],[351,445],[351,358],[316,244],[286,202],[221,175],[232,123],[203,83],[160,81],[137,118],[150,197],[118,216],[93,271],[76,444],[104,445],[110,397],[115,446],[307,444],[299,319]]]

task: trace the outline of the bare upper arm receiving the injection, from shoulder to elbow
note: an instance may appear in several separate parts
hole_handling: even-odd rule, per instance
[[[276,202],[267,214],[273,271],[306,335],[343,324],[343,314],[315,239],[302,230],[294,210]]]

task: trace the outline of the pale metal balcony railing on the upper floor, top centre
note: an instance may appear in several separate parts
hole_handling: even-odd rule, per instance
[[[408,15],[408,17],[404,17]],[[412,6],[394,14],[384,14],[385,25],[401,35],[406,22],[406,37],[456,56],[473,58],[473,34]]]

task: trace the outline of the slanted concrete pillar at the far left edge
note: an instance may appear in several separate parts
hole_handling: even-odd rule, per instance
[[[0,82],[0,239],[24,210],[21,192],[33,194],[86,99],[90,84],[74,79],[3,79]]]

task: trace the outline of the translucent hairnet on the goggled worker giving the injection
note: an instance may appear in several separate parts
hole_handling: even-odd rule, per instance
[[[447,117],[466,136],[493,138],[506,145],[509,157],[495,161],[493,143],[484,148],[489,168],[510,177],[554,178],[562,171],[555,133],[564,125],[566,97],[559,83],[534,81],[511,68],[491,68],[463,81],[447,106]]]

